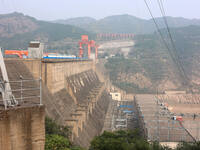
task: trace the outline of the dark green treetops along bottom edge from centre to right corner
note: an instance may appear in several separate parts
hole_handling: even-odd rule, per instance
[[[200,143],[180,143],[174,150],[198,150]],[[137,131],[105,131],[91,142],[90,150],[172,150],[157,142],[149,143]]]

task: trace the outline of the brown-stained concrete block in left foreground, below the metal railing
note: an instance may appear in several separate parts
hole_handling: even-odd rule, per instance
[[[17,108],[0,113],[1,150],[43,150],[45,143],[44,108]]]

